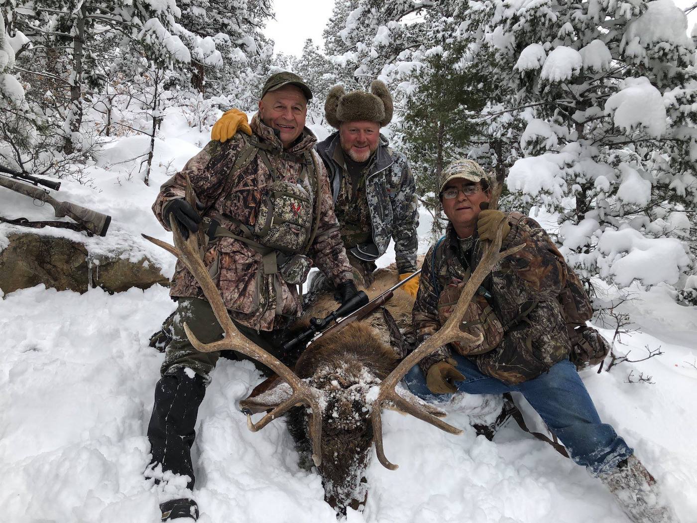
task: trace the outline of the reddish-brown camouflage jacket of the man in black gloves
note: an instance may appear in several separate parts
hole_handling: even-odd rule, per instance
[[[283,151],[280,140],[273,130],[261,122],[258,115],[252,118],[252,132],[260,142],[271,144],[277,153],[301,155],[312,151],[316,137],[305,128],[298,142],[288,151]],[[191,158],[184,169],[162,184],[160,194],[153,204],[153,212],[165,229],[169,224],[162,218],[162,209],[171,199],[185,194],[185,176],[189,176],[199,202],[206,207],[204,220],[209,213],[222,218],[220,225],[238,232],[233,220],[254,226],[256,209],[259,207],[263,190],[272,183],[272,175],[256,154],[234,179],[229,179],[230,170],[238,154],[243,151],[245,141],[236,135],[229,142],[208,142],[206,147]],[[314,151],[312,152],[314,155]],[[284,156],[269,154],[268,158],[277,176],[291,183],[298,183],[302,165]],[[334,215],[329,182],[323,163],[314,156],[320,170],[321,197],[319,227],[308,256],[335,285],[353,279],[346,251],[339,235],[339,224]],[[305,176],[302,187],[315,197],[312,184]],[[231,218],[228,220],[227,218]],[[314,220],[314,218],[313,218]],[[241,236],[241,234],[240,234]],[[263,331],[282,328],[288,319],[302,312],[296,285],[288,285],[280,274],[263,274],[261,255],[249,245],[234,238],[217,238],[206,248],[204,261],[214,275],[223,301],[231,317],[241,324]],[[217,271],[211,270],[217,266]],[[170,296],[203,298],[204,294],[193,275],[178,262],[171,280]]]

